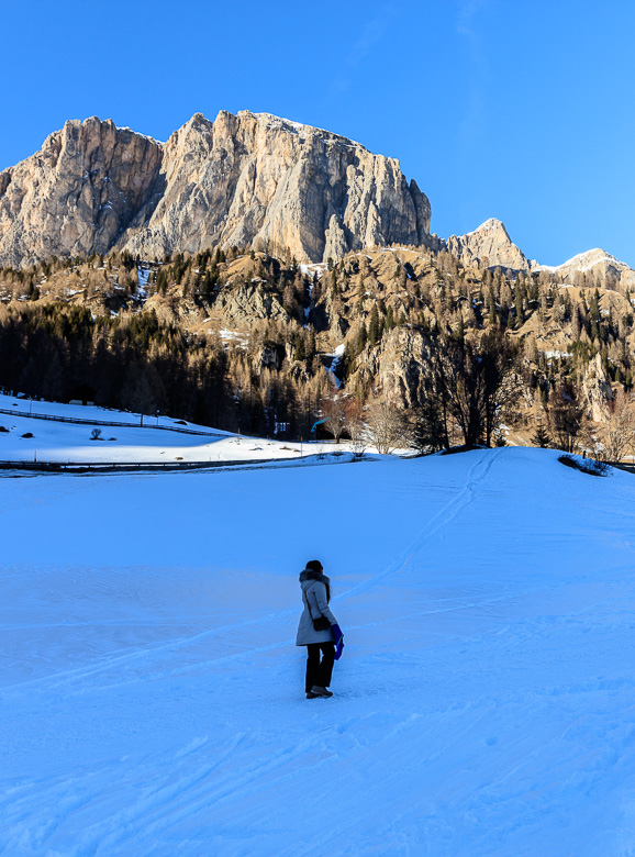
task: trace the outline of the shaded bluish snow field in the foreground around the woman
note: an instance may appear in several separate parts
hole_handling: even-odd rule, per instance
[[[0,536],[1,854],[635,854],[632,475],[4,477]],[[331,700],[293,645],[315,557]]]

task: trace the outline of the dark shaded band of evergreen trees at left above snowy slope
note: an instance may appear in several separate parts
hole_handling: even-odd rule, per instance
[[[66,303],[0,308],[0,386],[65,401],[88,386],[105,408],[256,435],[308,435],[326,376],[256,371],[239,349],[188,337],[154,310],[92,318]]]

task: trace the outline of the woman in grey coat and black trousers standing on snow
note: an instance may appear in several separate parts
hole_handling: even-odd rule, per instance
[[[333,664],[342,655],[344,646],[337,620],[328,609],[331,581],[322,574],[323,570],[322,563],[312,559],[300,574],[304,610],[300,616],[296,645],[307,646],[307,699],[333,695],[328,690]]]

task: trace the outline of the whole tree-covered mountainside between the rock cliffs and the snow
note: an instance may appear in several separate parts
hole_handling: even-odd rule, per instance
[[[326,416],[350,435],[383,399],[422,449],[504,443],[503,426],[606,446],[633,388],[619,283],[466,268],[426,247],[323,266],[248,248],[52,259],[0,271],[0,298],[4,389],[81,389],[246,434],[308,436]]]

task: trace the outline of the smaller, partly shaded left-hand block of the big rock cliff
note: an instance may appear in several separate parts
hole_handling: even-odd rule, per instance
[[[159,175],[161,147],[96,116],[0,174],[0,265],[108,252]]]

